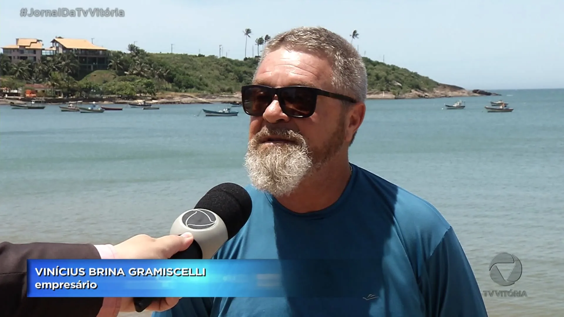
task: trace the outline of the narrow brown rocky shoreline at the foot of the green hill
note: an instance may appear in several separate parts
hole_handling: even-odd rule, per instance
[[[367,99],[420,99],[420,98],[448,98],[448,97],[469,97],[469,96],[499,96],[484,90],[466,90],[462,87],[440,84],[433,91],[412,90],[406,94],[394,95],[390,91],[371,91]],[[7,97],[0,99],[0,104],[25,104],[34,98]],[[160,93],[155,98],[141,98],[138,100],[126,100],[118,97],[105,96],[98,98],[42,98],[46,104],[65,104],[81,100],[84,103],[99,104],[127,104],[136,103],[140,100],[152,104],[211,104],[211,103],[241,103],[241,94],[232,95],[204,95],[204,94],[185,94],[185,93]]]

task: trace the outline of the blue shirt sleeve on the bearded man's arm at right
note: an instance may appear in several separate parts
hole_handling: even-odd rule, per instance
[[[454,230],[425,262],[419,287],[426,317],[487,317],[482,293]]]

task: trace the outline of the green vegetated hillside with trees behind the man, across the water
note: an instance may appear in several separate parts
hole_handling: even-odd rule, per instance
[[[60,54],[38,63],[11,64],[0,56],[2,74],[28,83],[48,83],[64,95],[155,95],[158,92],[231,94],[251,82],[258,58],[245,60],[187,54],[148,53],[129,45],[129,52],[113,51],[108,71],[80,74],[76,56]],[[369,93],[395,95],[412,89],[429,92],[438,83],[408,69],[364,58]]]

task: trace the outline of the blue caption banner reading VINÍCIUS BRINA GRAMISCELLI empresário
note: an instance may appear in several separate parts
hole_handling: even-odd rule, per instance
[[[28,259],[28,297],[362,297],[367,260]]]

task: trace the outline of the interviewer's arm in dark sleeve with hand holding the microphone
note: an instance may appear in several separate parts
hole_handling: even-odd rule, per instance
[[[2,316],[117,316],[135,311],[132,298],[37,298],[27,297],[27,259],[167,259],[186,250],[192,236],[154,239],[134,236],[116,246],[66,243],[0,243],[0,305]],[[179,298],[153,302],[147,310],[170,309]]]

